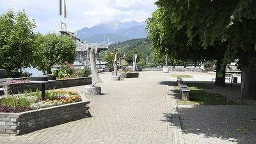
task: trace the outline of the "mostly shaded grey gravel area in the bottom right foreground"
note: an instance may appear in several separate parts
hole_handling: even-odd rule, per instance
[[[256,143],[256,106],[179,107],[185,143]]]

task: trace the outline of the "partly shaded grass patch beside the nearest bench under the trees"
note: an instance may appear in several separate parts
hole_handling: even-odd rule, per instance
[[[222,104],[235,104],[231,100],[227,100],[220,94],[207,93],[209,86],[202,83],[188,83],[190,89],[189,100],[177,100],[178,105],[222,105]],[[175,92],[180,93],[180,88],[175,86]],[[181,98],[180,94],[176,95]]]

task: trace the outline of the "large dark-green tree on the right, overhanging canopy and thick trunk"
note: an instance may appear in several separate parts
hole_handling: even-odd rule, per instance
[[[188,44],[198,41],[200,49],[212,49],[212,54],[220,56],[216,59],[218,71],[225,70],[225,65],[239,58],[243,71],[242,94],[256,99],[256,1],[159,0],[156,4],[167,13],[164,16],[170,18],[167,23],[178,30],[185,29]],[[164,38],[168,39],[167,36],[161,39]]]

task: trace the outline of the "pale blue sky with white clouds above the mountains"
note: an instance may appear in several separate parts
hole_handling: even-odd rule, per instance
[[[77,31],[100,22],[118,20],[144,22],[156,10],[156,0],[66,0],[67,19],[59,16],[59,0],[0,0],[0,13],[26,10],[36,22],[35,31],[59,31],[60,20]]]

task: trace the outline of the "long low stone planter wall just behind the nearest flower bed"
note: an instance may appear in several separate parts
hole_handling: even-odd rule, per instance
[[[57,80],[56,82],[45,83],[45,90],[52,90],[55,88],[68,88],[72,86],[83,86],[92,84],[92,77],[82,77],[82,78],[74,78],[74,79],[63,79]],[[17,94],[20,92],[24,92],[24,90],[32,90],[33,92],[36,89],[41,90],[42,84],[40,83],[17,83],[10,84],[9,90],[10,93]],[[3,93],[0,93],[3,95]]]

